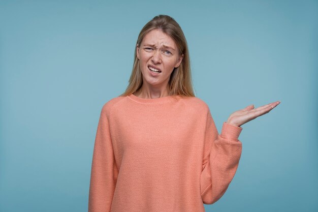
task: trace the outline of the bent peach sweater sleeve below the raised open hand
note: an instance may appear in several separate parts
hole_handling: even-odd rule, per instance
[[[242,153],[238,140],[242,128],[224,122],[219,135],[210,110],[206,120],[200,189],[203,203],[213,204],[224,195],[237,170]]]

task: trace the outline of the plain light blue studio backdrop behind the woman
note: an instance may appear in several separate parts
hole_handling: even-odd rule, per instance
[[[102,106],[128,85],[141,28],[172,16],[216,127],[242,126],[206,211],[317,211],[317,1],[0,1],[0,211],[87,211]]]

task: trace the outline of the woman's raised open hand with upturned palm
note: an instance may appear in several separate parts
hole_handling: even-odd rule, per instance
[[[276,102],[272,102],[255,109],[254,109],[254,105],[249,105],[245,107],[244,109],[241,109],[232,113],[230,117],[228,118],[227,123],[240,127],[241,125],[244,125],[250,120],[268,113],[274,107],[276,107],[279,103],[280,101],[276,101]]]

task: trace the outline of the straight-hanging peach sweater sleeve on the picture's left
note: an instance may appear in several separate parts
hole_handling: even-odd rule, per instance
[[[101,111],[91,164],[88,212],[109,212],[118,170],[110,136],[107,107]]]

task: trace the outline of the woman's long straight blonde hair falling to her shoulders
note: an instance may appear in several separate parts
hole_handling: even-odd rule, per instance
[[[120,96],[131,95],[142,86],[142,73],[136,53],[137,44],[140,46],[144,36],[153,29],[161,29],[164,33],[169,35],[176,42],[176,45],[179,49],[179,55],[183,54],[183,59],[180,66],[174,68],[170,75],[169,96],[180,95],[195,97],[187,42],[179,24],[168,15],[155,16],[141,29],[135,46],[134,66],[129,79],[129,85],[126,87],[125,92]]]

